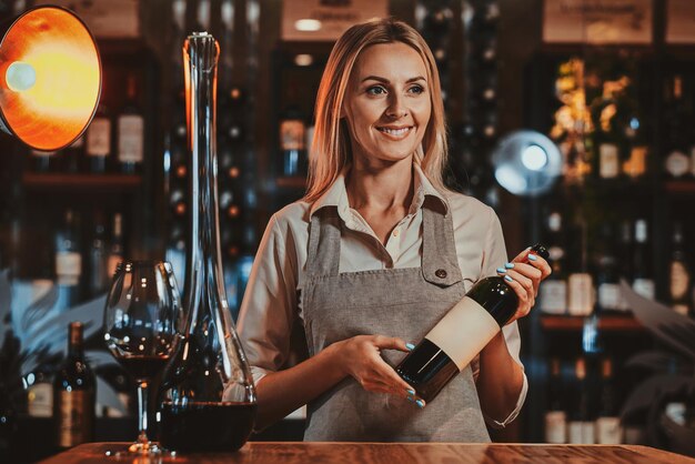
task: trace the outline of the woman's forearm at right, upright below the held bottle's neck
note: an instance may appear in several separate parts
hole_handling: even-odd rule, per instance
[[[524,384],[522,367],[512,359],[502,332],[481,351],[476,386],[481,407],[498,422],[516,407]]]

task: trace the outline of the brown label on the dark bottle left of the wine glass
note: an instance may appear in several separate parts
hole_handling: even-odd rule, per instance
[[[94,426],[93,394],[80,390],[61,391],[59,402],[58,445],[70,447],[91,441]]]

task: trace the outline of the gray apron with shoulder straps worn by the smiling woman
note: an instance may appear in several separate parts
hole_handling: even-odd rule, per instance
[[[417,342],[465,294],[451,216],[423,208],[421,268],[340,273],[335,208],[311,220],[306,278],[300,285],[310,355],[355,335]],[[392,366],[404,353],[385,350]],[[349,376],[309,404],[305,441],[490,442],[470,366],[423,410],[365,391]]]

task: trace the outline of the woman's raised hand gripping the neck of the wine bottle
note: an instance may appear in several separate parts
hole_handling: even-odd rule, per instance
[[[497,275],[503,276],[518,296],[518,307],[507,324],[531,312],[538,295],[541,281],[551,275],[551,272],[547,261],[530,249],[518,253],[511,263],[497,269]]]

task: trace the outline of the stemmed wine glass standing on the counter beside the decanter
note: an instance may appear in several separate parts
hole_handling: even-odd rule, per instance
[[[183,322],[169,262],[124,261],[118,265],[104,311],[104,340],[111,354],[138,384],[140,433],[125,454],[162,453],[148,438],[148,386],[174,353]]]

